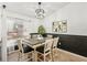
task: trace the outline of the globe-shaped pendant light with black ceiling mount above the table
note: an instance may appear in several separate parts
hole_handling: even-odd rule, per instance
[[[41,8],[41,2],[39,2],[39,8],[35,10],[35,14],[37,19],[44,19],[45,11]]]

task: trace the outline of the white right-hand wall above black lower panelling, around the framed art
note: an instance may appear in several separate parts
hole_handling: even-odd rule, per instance
[[[50,28],[47,32],[52,32],[52,22],[59,20],[67,20],[67,33],[64,34],[87,35],[87,3],[69,3],[46,18],[44,26]]]

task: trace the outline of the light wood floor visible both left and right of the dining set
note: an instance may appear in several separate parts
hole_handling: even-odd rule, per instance
[[[18,52],[14,52],[9,55],[8,61],[18,62]],[[56,48],[54,50],[54,62],[87,62],[87,57]]]

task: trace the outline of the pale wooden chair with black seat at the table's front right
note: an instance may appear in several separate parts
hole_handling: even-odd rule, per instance
[[[44,42],[44,45],[36,48],[37,54],[40,54],[37,55],[39,61],[41,62],[52,61],[52,54],[51,54],[52,44],[53,44],[53,39],[50,39]]]

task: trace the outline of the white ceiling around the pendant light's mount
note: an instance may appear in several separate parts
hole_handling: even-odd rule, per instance
[[[42,9],[45,11],[45,17],[58,11],[69,2],[42,2]],[[3,3],[0,3],[0,6]],[[37,2],[4,2],[7,10],[23,14],[30,18],[35,18],[35,9],[39,8]]]

